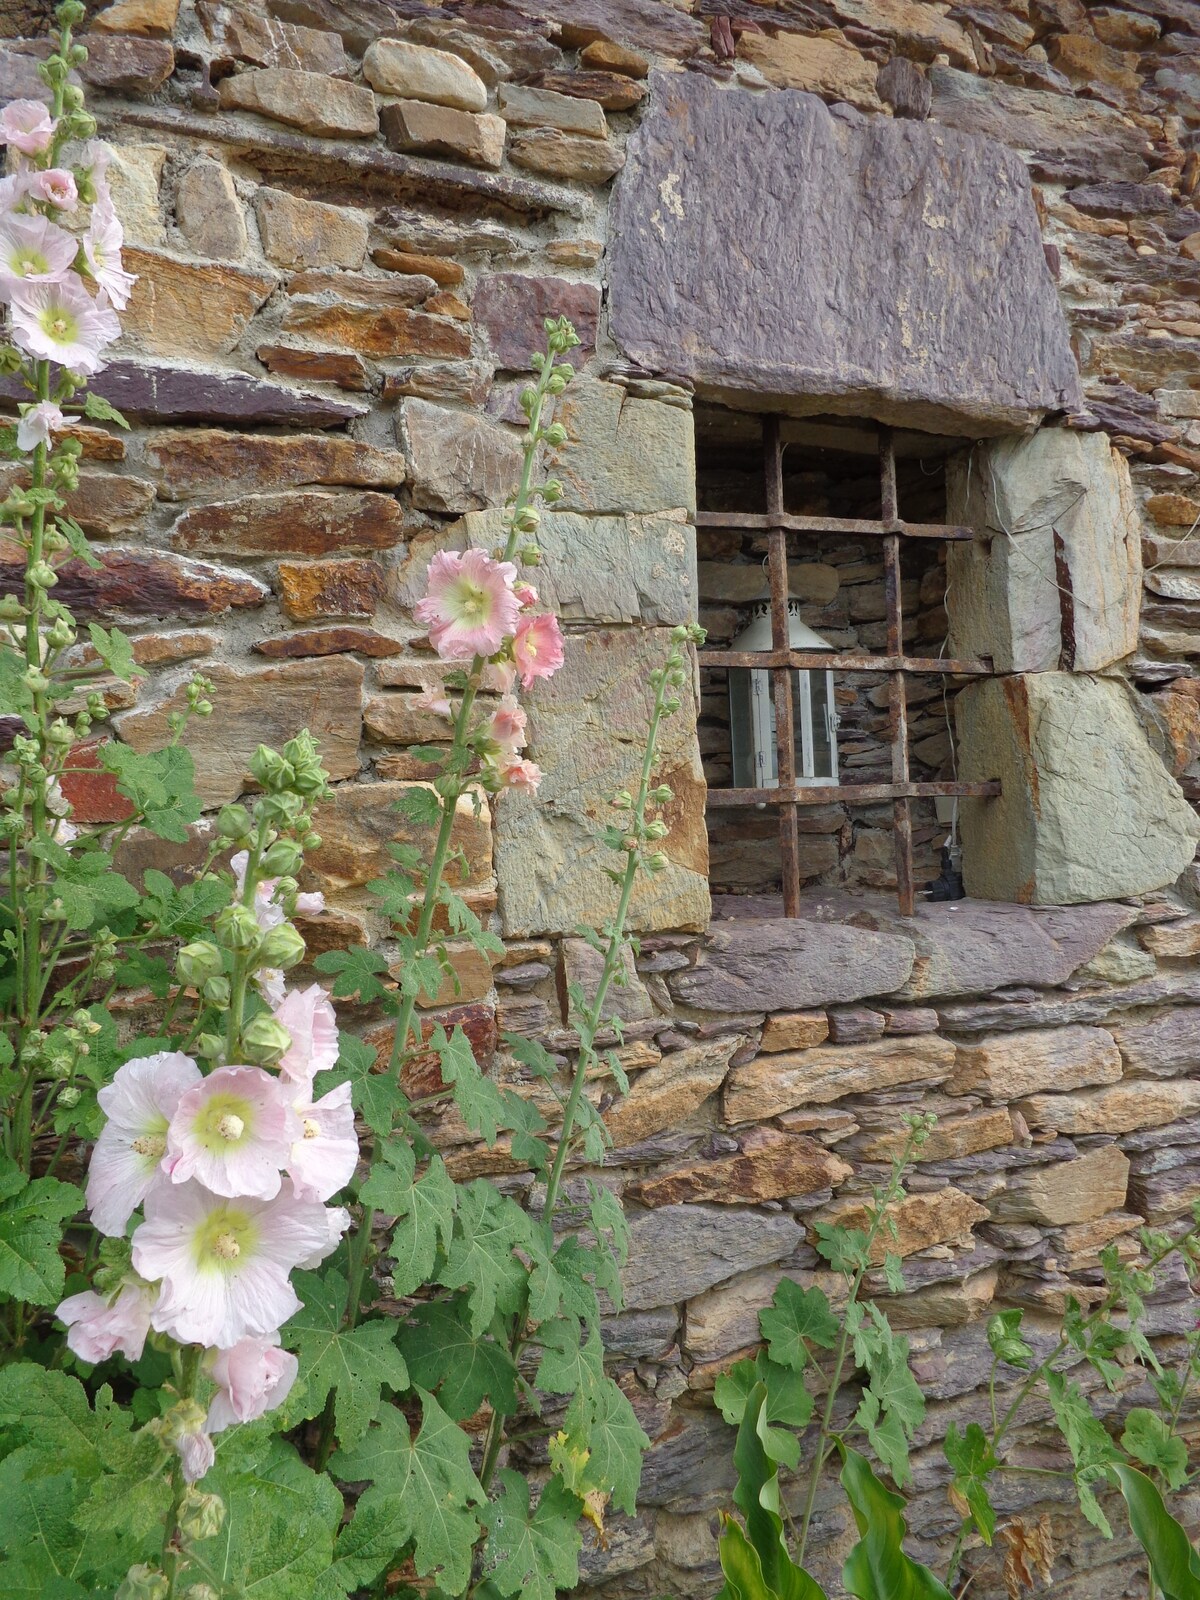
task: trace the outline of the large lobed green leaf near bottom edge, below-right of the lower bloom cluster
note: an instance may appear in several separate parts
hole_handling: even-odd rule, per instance
[[[478,1517],[470,1509],[486,1499],[470,1467],[467,1435],[424,1389],[416,1437],[403,1411],[386,1406],[376,1426],[352,1450],[331,1459],[342,1478],[368,1478],[374,1488],[358,1502],[376,1523],[390,1522],[392,1550],[413,1544],[418,1574],[438,1574],[448,1594],[470,1582],[470,1557]]]

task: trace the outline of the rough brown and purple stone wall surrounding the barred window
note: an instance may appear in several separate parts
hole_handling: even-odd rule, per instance
[[[10,32],[35,14],[3,11]],[[464,891],[506,954],[493,970],[464,954],[434,1008],[512,1082],[499,1035],[571,1050],[563,995],[589,950],[570,930],[610,910],[590,829],[635,755],[664,630],[710,605],[704,563],[760,558],[707,544],[696,563],[693,389],[960,448],[949,509],[984,538],[947,570],[950,638],[981,648],[982,630],[1005,674],[958,696],[963,774],[1008,763],[1003,800],[963,818],[973,888],[1082,904],[971,899],[906,923],[886,893],[829,883],[797,922],[723,902],[709,926],[699,707],[672,725],[672,866],[637,904],[632,1091],[602,1173],[634,1232],[608,1346],[653,1448],[640,1517],[586,1566],[613,1597],[718,1587],[731,1462],[712,1384],[778,1277],[818,1269],[814,1218],[861,1203],[910,1107],[941,1123],[902,1216],[909,1293],[888,1309],[930,1398],[910,1517],[928,1554],[957,1525],[938,1442],[979,1406],[989,1307],[1037,1322],[1088,1299],[1102,1243],[1130,1250],[1142,1219],[1200,1195],[1182,798],[1200,798],[1200,13],[117,0],[88,42],[141,275],[99,387],[134,430],[85,430],[74,510],[104,565],[62,590],[136,635],[149,675],[136,699],[112,688],[117,736],[157,741],[187,674],[214,677],[218,715],[192,739],[210,806],[261,739],[322,738],[336,794],[314,950],[386,936],[365,885],[419,778],[405,744],[438,731],[414,706],[437,662],[411,603],[434,549],[485,536],[510,486],[541,317],[581,331],[563,421],[582,443],[542,541],[571,635],[531,701],[549,778],[538,802],[464,811]],[[38,93],[38,48],[8,38],[5,98]],[[702,118],[725,138],[694,138]],[[850,610],[874,570],[851,584],[850,552],[816,565],[835,568],[846,626],[869,627]],[[912,576],[936,653],[941,568]],[[99,779],[72,800],[120,814]],[[851,853],[880,834],[843,826]],[[130,853],[184,872],[205,832]],[[384,1048],[386,1026],[360,1022]],[[504,1150],[434,1131],[458,1173],[525,1187]],[[1150,1310],[1165,1357],[1194,1320],[1173,1280]],[[1128,1544],[1043,1493],[1014,1485],[1010,1509],[1050,1512],[1054,1594],[1126,1594]],[[837,1592],[851,1531],[832,1494],[818,1526]],[[979,1565],[973,1594],[998,1600]]]

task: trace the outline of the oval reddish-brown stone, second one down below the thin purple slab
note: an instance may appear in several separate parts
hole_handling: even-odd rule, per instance
[[[400,542],[400,506],[390,494],[317,490],[262,494],[186,510],[171,534],[176,549],[226,555],[330,555],[387,550]]]

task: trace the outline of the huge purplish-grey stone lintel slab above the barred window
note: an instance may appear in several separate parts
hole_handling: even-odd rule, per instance
[[[813,94],[653,75],[610,304],[627,355],[717,395],[976,434],[1080,402],[1021,158]]]

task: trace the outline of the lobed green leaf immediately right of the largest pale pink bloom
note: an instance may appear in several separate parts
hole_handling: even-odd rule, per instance
[[[346,1278],[339,1272],[323,1278],[298,1272],[294,1282],[304,1306],[285,1331],[304,1373],[302,1410],[296,1414],[315,1416],[336,1389],[338,1438],[357,1445],[379,1410],[381,1390],[408,1389],[408,1366],[397,1349],[394,1325],[381,1318],[344,1330]]]

